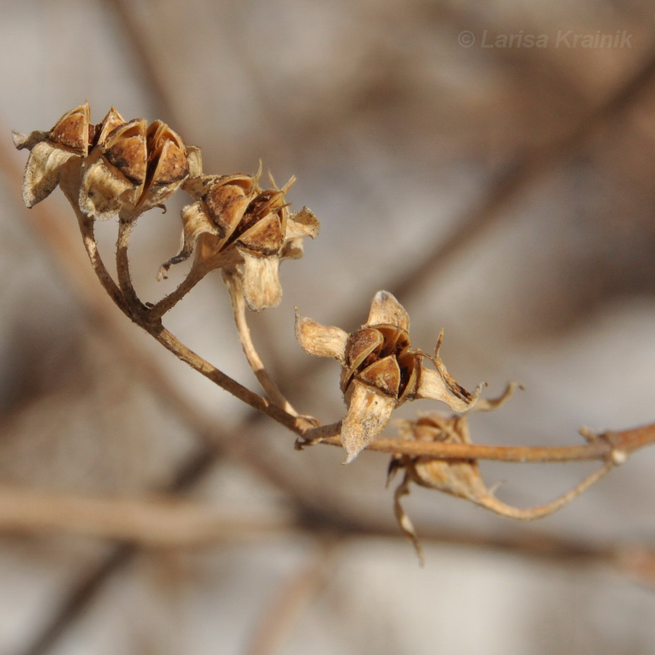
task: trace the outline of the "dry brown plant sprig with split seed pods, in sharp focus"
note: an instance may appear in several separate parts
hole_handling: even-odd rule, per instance
[[[286,196],[295,181],[282,188],[259,185],[255,174],[205,174],[201,151],[185,145],[179,134],[161,121],[125,121],[113,107],[94,125],[88,103],[64,114],[51,130],[13,133],[14,145],[30,150],[23,177],[23,201],[31,208],[57,185],[75,212],[92,268],[105,292],[121,311],[151,334],[181,361],[191,365],[236,398],[296,435],[296,447],[327,443],[345,449],[345,463],[362,450],[392,455],[389,478],[403,470],[395,493],[395,513],[402,532],[414,543],[416,532],[401,506],[410,484],[463,498],[510,518],[531,520],[550,514],[581,494],[633,450],[655,441],[655,424],[621,432],[581,431],[587,443],[563,447],[498,446],[472,443],[467,414],[489,411],[504,403],[516,388],[510,383],[499,399],[481,399],[485,385],[468,392],[447,372],[439,350],[433,355],[410,345],[410,316],[392,294],[375,294],[367,321],[349,334],[300,316],[296,339],[316,356],[341,364],[339,387],[347,410],[342,421],[323,425],[296,412],[271,379],[256,351],[248,312],[279,305],[282,288],[279,263],[303,254],[303,239],[319,234],[319,221],[306,207],[290,212]],[[159,271],[193,255],[191,268],[179,286],[157,303],[139,298],[130,274],[130,235],[141,214],[163,203],[178,190],[192,203],[181,212],[180,252]],[[96,220],[118,216],[116,274],[101,259],[94,236]],[[163,325],[163,316],[203,277],[220,269],[228,288],[234,321],[246,359],[265,395],[236,382],[186,347]],[[400,421],[398,438],[382,436],[396,407],[417,399],[440,401],[450,414],[432,412],[415,421]],[[590,476],[554,501],[531,509],[507,505],[481,478],[478,460],[565,462],[597,459]]]

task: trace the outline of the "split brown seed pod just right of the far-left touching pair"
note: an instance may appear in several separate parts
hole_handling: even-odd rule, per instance
[[[319,233],[308,208],[290,214],[285,195],[293,182],[262,191],[259,172],[188,181],[185,190],[196,202],[182,210],[182,248],[162,265],[159,277],[195,252],[193,265],[201,274],[220,268],[241,278],[250,310],[278,305],[280,261],[301,256],[305,236]]]

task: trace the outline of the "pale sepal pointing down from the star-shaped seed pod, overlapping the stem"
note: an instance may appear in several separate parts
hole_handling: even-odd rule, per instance
[[[398,404],[393,396],[385,396],[359,381],[354,381],[351,389],[348,411],[341,425],[341,445],[347,452],[344,464],[352,462],[387,427]]]

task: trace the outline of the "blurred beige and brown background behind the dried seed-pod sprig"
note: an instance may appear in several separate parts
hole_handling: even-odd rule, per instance
[[[294,451],[131,325],[61,192],[23,207],[10,141],[88,100],[94,122],[111,105],[167,121],[206,172],[295,174],[321,234],[252,329],[296,407],[343,416],[294,305],[352,330],[387,289],[414,346],[445,328],[463,385],[525,386],[474,440],[580,443],[581,425],[655,418],[652,2],[33,0],[1,17],[1,653],[655,652],[655,452],[528,525],[414,490],[420,569],[387,458]],[[183,202],[137,226],[146,300],[181,279],[155,274]],[[99,225],[108,260],[115,230]],[[219,274],[167,321],[256,389]],[[483,471],[525,506],[589,466]]]

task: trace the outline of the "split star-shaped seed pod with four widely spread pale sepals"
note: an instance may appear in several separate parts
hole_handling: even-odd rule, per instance
[[[439,359],[439,344],[429,358],[436,370],[425,366],[425,354],[410,347],[409,328],[405,308],[386,291],[374,296],[367,322],[352,334],[296,314],[296,339],[305,352],[341,362],[345,463],[374,441],[405,401],[429,398],[465,412],[478,399],[482,385],[473,393],[458,385]]]

